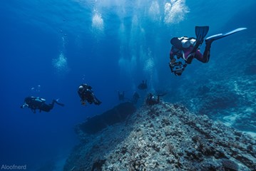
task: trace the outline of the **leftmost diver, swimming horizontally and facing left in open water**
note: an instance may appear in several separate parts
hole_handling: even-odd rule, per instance
[[[58,103],[58,100],[52,100],[52,102],[48,105],[45,102],[46,100],[43,98],[29,96],[24,99],[24,104],[21,105],[21,108],[31,108],[32,112],[36,113],[36,109],[39,109],[39,112],[49,112],[53,109],[55,103],[64,106],[64,104]]]

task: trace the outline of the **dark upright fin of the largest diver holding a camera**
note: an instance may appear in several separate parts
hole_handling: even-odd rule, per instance
[[[198,47],[203,43],[204,38],[208,31],[209,26],[195,26],[196,43],[190,54],[194,53],[198,49]]]

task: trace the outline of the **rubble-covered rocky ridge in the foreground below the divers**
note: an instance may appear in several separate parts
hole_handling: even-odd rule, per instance
[[[81,124],[76,133],[65,171],[256,170],[255,138],[179,104],[144,105],[97,133]]]

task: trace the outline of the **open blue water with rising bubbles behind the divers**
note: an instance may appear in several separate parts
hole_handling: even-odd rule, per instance
[[[131,97],[145,79],[149,90],[170,90],[197,77],[194,67],[228,63],[220,51],[235,53],[230,43],[255,40],[255,7],[254,0],[0,1],[0,166],[35,170],[62,160],[77,143],[73,126],[118,104],[117,90]],[[210,26],[208,35],[248,29],[214,44],[210,63],[194,62],[175,77],[168,67],[170,38],[194,36],[194,27],[203,25]],[[81,105],[81,83],[93,87],[100,106]],[[28,95],[47,103],[60,98],[65,107],[34,114],[20,108]]]

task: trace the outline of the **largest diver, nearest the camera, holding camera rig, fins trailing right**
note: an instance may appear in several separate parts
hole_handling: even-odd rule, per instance
[[[209,31],[209,26],[195,26],[196,38],[188,38],[187,36],[172,38],[170,40],[170,43],[172,44],[169,63],[170,71],[174,73],[175,76],[181,76],[185,67],[192,62],[193,58],[196,58],[198,61],[203,63],[208,63],[210,59],[210,47],[213,41],[245,29],[247,28],[237,28],[227,33],[219,33],[205,38]],[[202,54],[199,47],[202,45],[204,38],[205,51]]]

